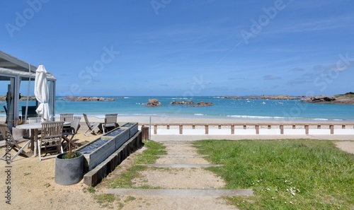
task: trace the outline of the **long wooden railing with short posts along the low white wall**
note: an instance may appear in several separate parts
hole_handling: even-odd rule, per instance
[[[149,126],[148,124],[139,124],[142,127]],[[323,129],[323,127],[329,127],[331,134],[334,134],[334,127],[335,126],[341,126],[341,129],[350,129],[352,127],[354,129],[354,122],[348,122],[348,123],[331,123],[331,124],[326,124],[326,123],[307,123],[307,124],[276,124],[276,123],[267,123],[267,124],[191,124],[191,123],[156,123],[152,124],[154,127],[154,134],[157,134],[157,128],[158,127],[166,127],[166,129],[170,129],[170,127],[179,127],[179,134],[183,134],[183,127],[192,127],[192,129],[195,129],[195,127],[204,127],[205,128],[205,134],[209,134],[209,127],[217,127],[217,129],[222,129],[222,127],[230,127],[231,132],[230,134],[235,134],[235,127],[241,127],[241,129],[249,129],[248,127],[254,127],[256,129],[256,134],[259,134],[259,129],[260,127],[267,127],[267,129],[272,129],[272,127],[279,127],[280,129],[280,134],[284,134],[284,127],[292,127],[292,129],[299,129],[303,128],[305,129],[305,134],[309,134],[309,127],[316,127],[316,129]]]

